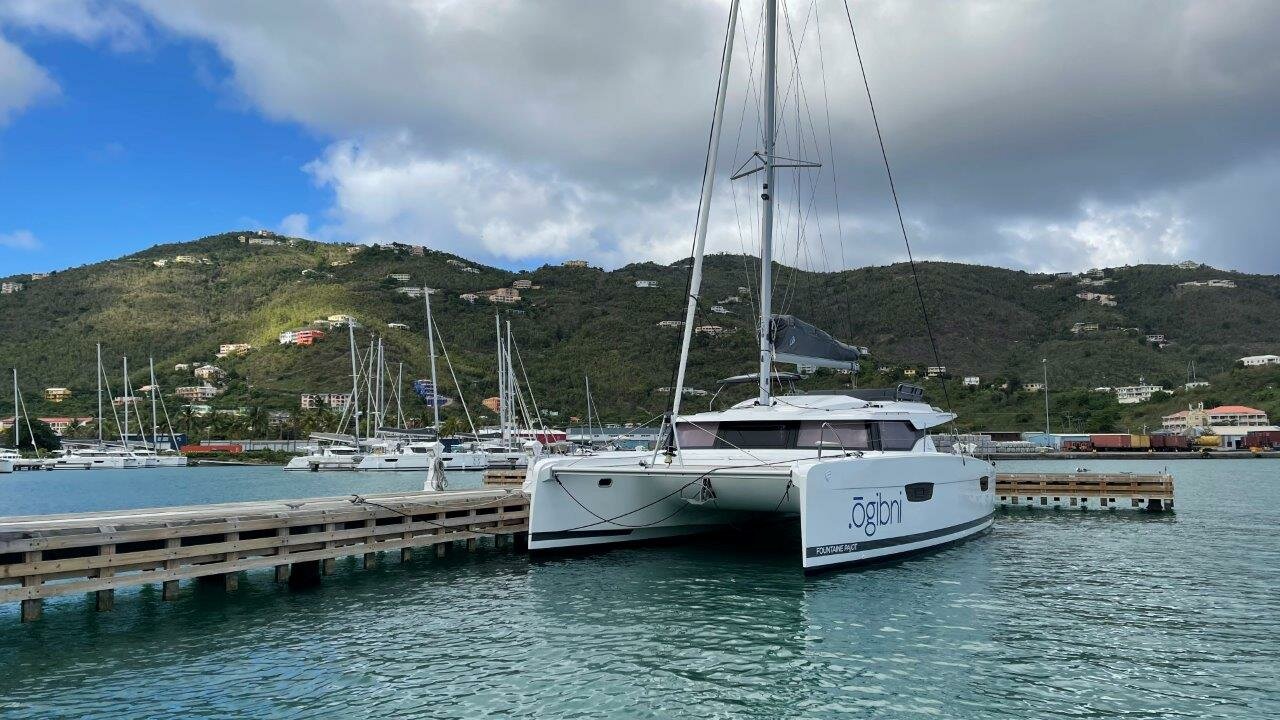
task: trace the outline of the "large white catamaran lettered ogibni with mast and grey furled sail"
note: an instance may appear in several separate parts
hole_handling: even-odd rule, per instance
[[[881,561],[960,541],[991,528],[995,471],[938,452],[927,430],[951,413],[919,388],[773,392],[773,363],[856,370],[865,348],[772,313],[774,168],[815,167],[776,155],[777,0],[764,0],[764,173],[760,224],[756,397],[723,411],[681,414],[701,284],[716,152],[730,78],[737,0],[730,6],[707,172],[694,240],[690,296],[666,450],[549,456],[529,469],[531,551],[686,536],[777,515],[799,515],[805,571]],[[754,170],[753,170],[754,172]]]

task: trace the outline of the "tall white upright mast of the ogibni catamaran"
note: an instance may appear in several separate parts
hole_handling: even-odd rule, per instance
[[[773,369],[773,347],[769,328],[773,323],[773,146],[774,95],[777,95],[778,0],[764,0],[764,202],[760,219],[760,405],[769,404],[769,373]]]

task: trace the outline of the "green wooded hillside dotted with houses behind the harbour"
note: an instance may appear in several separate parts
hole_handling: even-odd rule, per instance
[[[477,415],[492,415],[479,401],[497,392],[495,307],[512,322],[539,405],[559,411],[558,424],[585,414],[582,378],[588,374],[605,420],[643,421],[669,402],[657,388],[672,384],[680,331],[655,325],[682,316],[687,261],[636,264],[613,272],[556,265],[512,273],[430,250],[413,255],[407,247],[348,247],[298,238],[257,246],[242,242],[243,234],[253,237],[232,232],[161,245],[42,279],[4,278],[26,287],[0,295],[0,365],[18,368],[31,411],[93,414],[95,342],[104,345],[113,383],[119,382],[119,357],[128,355],[133,386],[146,384],[146,359],[154,356],[166,392],[198,384],[189,372],[175,372],[175,364],[215,361],[220,343],[252,343],[255,350],[244,357],[215,361],[228,372],[228,382],[227,392],[211,405],[250,407],[255,414],[297,411],[300,392],[342,392],[349,386],[349,345],[344,329],[314,347],[280,346],[276,336],[339,313],[364,324],[357,331],[360,343],[367,343],[370,333],[383,336],[388,360],[393,366],[403,361],[406,378],[426,377],[422,301],[397,293],[402,283],[390,279],[392,273],[411,275],[408,284],[442,290],[433,297],[433,310],[462,391]],[[207,264],[175,263],[179,255],[207,259]],[[156,266],[157,260],[168,264]],[[751,290],[756,273],[751,259],[708,259],[698,323],[732,332],[714,338],[696,336],[691,387],[714,389],[717,378],[753,370]],[[1048,359],[1050,384],[1056,389],[1055,425],[1111,429],[1140,427],[1152,418],[1158,424],[1161,411],[1199,400],[1249,402],[1280,415],[1270,389],[1280,380],[1276,372],[1234,366],[1243,355],[1277,351],[1280,277],[1140,265],[1105,270],[1102,278],[1094,278],[1105,279],[1105,286],[1084,287],[1080,278],[951,263],[923,263],[920,273],[942,361],[954,378],[948,395],[966,427],[1042,425],[1042,396],[1016,389],[1039,379],[1042,357]],[[458,297],[508,287],[517,278],[539,288],[522,291],[516,305],[495,306],[484,299],[468,304]],[[1234,281],[1236,287],[1179,286],[1213,278]],[[637,288],[637,279],[658,281],[659,287]],[[748,292],[740,293],[741,287]],[[1080,300],[1075,297],[1080,291],[1110,293],[1117,305]],[[723,304],[730,314],[710,313],[713,304],[730,299],[740,300]],[[781,311],[870,347],[873,357],[859,384],[897,382],[908,368],[919,368],[923,374],[925,365],[933,365],[906,265],[841,273],[778,266],[774,302]],[[389,329],[388,323],[404,323],[411,329]],[[1073,333],[1075,323],[1098,323],[1100,329]],[[1167,345],[1161,348],[1147,342],[1149,333],[1166,336]],[[1087,392],[1098,386],[1134,384],[1139,377],[1180,388],[1193,361],[1198,377],[1213,383],[1198,395],[1179,393],[1121,409],[1110,396]],[[442,386],[453,395],[443,365],[442,374]],[[961,388],[963,375],[979,375],[982,386]],[[847,382],[847,377],[820,372],[804,387]],[[1006,382],[1015,389],[992,387]],[[941,388],[929,384],[931,398],[942,404]],[[59,405],[40,397],[42,388],[58,386],[70,388],[73,397]],[[175,397],[166,402],[170,409],[180,405]],[[690,402],[699,407],[705,398]],[[425,415],[425,405],[416,398],[408,407],[415,416]],[[323,425],[325,419],[312,420],[312,425]],[[211,421],[187,419],[186,424],[198,432]]]

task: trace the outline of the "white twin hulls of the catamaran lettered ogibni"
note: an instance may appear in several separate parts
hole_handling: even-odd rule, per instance
[[[534,468],[526,491],[534,552],[799,514],[805,571],[952,543],[989,529],[995,512],[991,465],[946,454],[739,468],[550,460]]]

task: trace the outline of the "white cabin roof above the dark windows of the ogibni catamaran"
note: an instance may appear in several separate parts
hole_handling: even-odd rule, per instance
[[[754,398],[744,400],[726,410],[681,415],[676,421],[908,420],[916,429],[925,429],[952,419],[955,414],[933,407],[928,402],[863,400],[842,391],[829,391],[824,395],[774,396],[768,406],[756,405]]]

